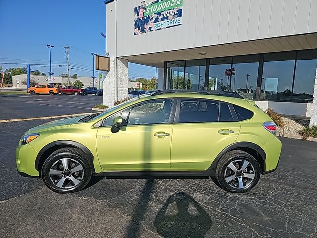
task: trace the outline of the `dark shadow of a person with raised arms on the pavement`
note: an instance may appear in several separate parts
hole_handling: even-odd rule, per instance
[[[154,225],[164,238],[203,238],[211,228],[212,221],[193,197],[181,192],[168,197]]]

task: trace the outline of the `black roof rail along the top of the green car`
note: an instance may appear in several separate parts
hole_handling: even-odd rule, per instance
[[[172,90],[158,90],[151,94],[151,96],[169,94],[169,93],[198,93],[205,95],[218,95],[224,97],[232,97],[232,98],[243,98],[240,94],[228,91],[217,91],[217,90],[191,90],[191,89],[172,89]]]

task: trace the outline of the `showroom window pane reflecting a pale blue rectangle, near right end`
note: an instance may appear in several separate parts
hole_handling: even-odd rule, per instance
[[[260,99],[291,100],[295,52],[264,55]]]

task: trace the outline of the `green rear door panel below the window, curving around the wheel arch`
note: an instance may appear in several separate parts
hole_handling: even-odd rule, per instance
[[[223,133],[223,130],[230,133]],[[172,169],[207,170],[216,156],[225,147],[234,143],[239,131],[239,122],[174,124],[171,145]]]

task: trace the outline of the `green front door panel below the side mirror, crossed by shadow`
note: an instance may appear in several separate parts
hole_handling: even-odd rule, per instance
[[[99,127],[96,147],[102,169],[107,171],[170,170],[173,124],[128,125],[117,133]],[[165,136],[158,136],[162,132]],[[159,134],[161,135],[161,133]]]

